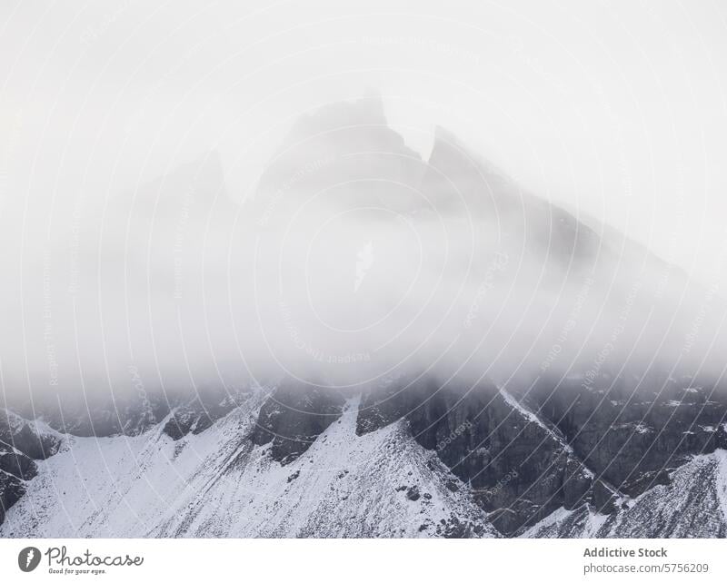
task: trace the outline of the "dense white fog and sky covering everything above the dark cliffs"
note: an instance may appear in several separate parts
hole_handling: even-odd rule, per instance
[[[0,7],[4,399],[719,382],[720,10]]]

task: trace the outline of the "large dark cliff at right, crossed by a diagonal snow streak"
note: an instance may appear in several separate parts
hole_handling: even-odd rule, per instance
[[[624,496],[666,485],[694,455],[727,448],[727,403],[713,385],[670,380],[650,392],[635,380],[600,382],[542,380],[523,401],[493,385],[399,380],[365,395],[357,433],[408,420],[413,438],[507,535],[561,507],[618,512]]]

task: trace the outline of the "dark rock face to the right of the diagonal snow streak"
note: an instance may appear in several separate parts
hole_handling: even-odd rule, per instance
[[[727,447],[727,401],[714,386],[667,380],[637,390],[636,380],[605,377],[586,388],[543,381],[531,397],[586,465],[632,497],[668,483],[693,455]]]

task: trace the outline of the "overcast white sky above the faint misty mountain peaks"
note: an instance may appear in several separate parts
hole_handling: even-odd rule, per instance
[[[81,193],[210,149],[242,198],[294,116],[373,89],[417,149],[449,126],[534,192],[713,282],[727,249],[726,28],[727,5],[708,0],[8,0],[5,236],[44,237]]]

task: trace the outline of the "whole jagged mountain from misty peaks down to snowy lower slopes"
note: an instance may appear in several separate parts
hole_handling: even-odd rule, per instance
[[[1,536],[727,536],[716,292],[377,97],[228,189],[205,154],[85,223],[98,389],[0,410]]]

